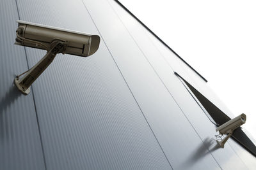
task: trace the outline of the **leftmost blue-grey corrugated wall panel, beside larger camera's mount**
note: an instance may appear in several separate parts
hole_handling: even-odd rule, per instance
[[[24,47],[15,46],[15,1],[0,1],[0,169],[45,169],[32,94],[14,87],[28,69]]]

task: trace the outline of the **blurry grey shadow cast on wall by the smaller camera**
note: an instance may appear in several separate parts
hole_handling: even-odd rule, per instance
[[[199,145],[198,148],[196,148],[193,153],[191,153],[191,155],[186,160],[186,162],[184,162],[178,169],[191,169],[193,164],[198,162],[198,160],[205,157],[205,155],[208,155],[211,152],[218,150],[219,148],[220,148],[220,145],[218,145],[218,143],[216,142],[216,139],[205,138],[203,143]]]

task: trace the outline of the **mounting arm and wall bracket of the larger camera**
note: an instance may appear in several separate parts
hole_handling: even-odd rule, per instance
[[[35,64],[35,66],[31,67],[28,71],[26,71],[22,78],[19,79],[19,76],[16,76],[14,79],[14,83],[17,86],[17,88],[22,92],[23,94],[27,95],[30,92],[30,86],[32,83],[42,74],[45,69],[51,64],[52,60],[55,58],[57,53],[65,53],[65,49],[67,48],[67,41],[62,41],[60,39],[54,39],[52,41],[51,45],[49,46],[49,50],[47,50],[47,53],[44,55],[44,57]]]

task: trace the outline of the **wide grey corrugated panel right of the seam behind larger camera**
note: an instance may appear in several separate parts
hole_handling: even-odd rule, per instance
[[[18,4],[21,20],[99,34],[82,1]],[[45,54],[26,49],[29,67]],[[57,55],[33,89],[47,169],[171,169],[104,41]]]

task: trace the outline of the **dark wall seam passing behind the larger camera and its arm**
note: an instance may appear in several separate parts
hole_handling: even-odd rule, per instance
[[[15,3],[16,3],[16,8],[17,8],[17,12],[18,12],[18,17],[19,17],[19,20],[20,20],[20,13],[19,13],[19,7],[18,7],[17,0],[15,0]],[[25,46],[24,46],[24,52],[25,52],[25,56],[26,56],[27,66],[28,66],[28,69],[29,69],[28,55],[27,55],[26,47],[25,47]],[[40,138],[40,144],[41,144],[41,148],[42,148],[42,155],[43,155],[43,159],[44,159],[44,166],[45,166],[45,170],[47,170],[47,166],[46,166],[46,162],[45,162],[44,145],[43,145],[43,142],[42,142],[42,135],[41,135],[40,124],[39,124],[39,120],[38,120],[38,113],[37,113],[37,110],[36,110],[35,94],[34,94],[32,85],[31,85],[31,93],[32,93],[32,97],[33,97],[34,107],[35,107],[36,123],[37,123],[37,127],[38,127],[38,133],[39,133],[39,138]]]

